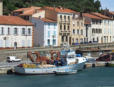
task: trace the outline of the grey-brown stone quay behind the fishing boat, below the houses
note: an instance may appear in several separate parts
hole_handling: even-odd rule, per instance
[[[83,52],[83,56],[87,56],[87,53],[90,52],[94,55],[92,57],[98,57],[99,52],[112,52],[114,50],[114,43],[108,44],[80,44],[77,46],[71,46],[74,50],[81,50]],[[49,52],[50,50],[61,50],[61,47],[33,47],[33,48],[18,48],[18,49],[2,49],[0,50],[0,74],[7,74],[9,71],[13,71],[14,66],[25,63],[29,59],[27,58],[27,52],[31,51],[39,51],[41,54],[45,54],[45,52]],[[97,54],[96,54],[97,53]],[[6,62],[7,56],[16,56],[22,59],[22,62],[16,63],[8,63]],[[92,67],[105,67],[105,66],[114,66],[114,61],[111,62],[87,62],[84,68],[92,68]]]

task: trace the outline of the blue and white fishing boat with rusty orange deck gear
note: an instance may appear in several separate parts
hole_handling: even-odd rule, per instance
[[[32,53],[33,52],[29,54]],[[54,74],[55,72],[56,74],[70,74],[73,73],[73,71],[82,70],[85,62],[87,61],[85,57],[77,56],[75,54],[75,51],[72,49],[61,50],[60,52],[51,52],[51,59],[40,57],[38,52],[35,52],[34,54],[37,54],[36,61],[34,61],[32,57],[30,57],[33,63],[20,64],[14,67],[14,71],[16,74],[38,75]],[[58,55],[54,59],[53,55],[55,54]]]

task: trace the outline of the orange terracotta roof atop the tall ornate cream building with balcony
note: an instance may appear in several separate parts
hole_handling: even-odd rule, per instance
[[[75,13],[75,11],[71,10],[71,9],[67,9],[67,8],[62,8],[62,7],[44,7],[46,9],[50,9],[56,12],[60,12],[60,13]]]

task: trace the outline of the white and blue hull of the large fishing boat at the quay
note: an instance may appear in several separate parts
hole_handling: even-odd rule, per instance
[[[15,67],[15,73],[25,75],[36,75],[36,74],[54,74],[54,72],[68,71],[68,70],[82,70],[85,63],[78,63],[73,65],[49,67],[49,68],[23,68]]]

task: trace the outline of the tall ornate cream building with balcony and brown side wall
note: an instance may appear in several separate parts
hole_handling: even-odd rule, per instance
[[[44,7],[46,18],[57,21],[58,45],[63,43],[72,44],[72,17],[75,11],[62,7]]]

